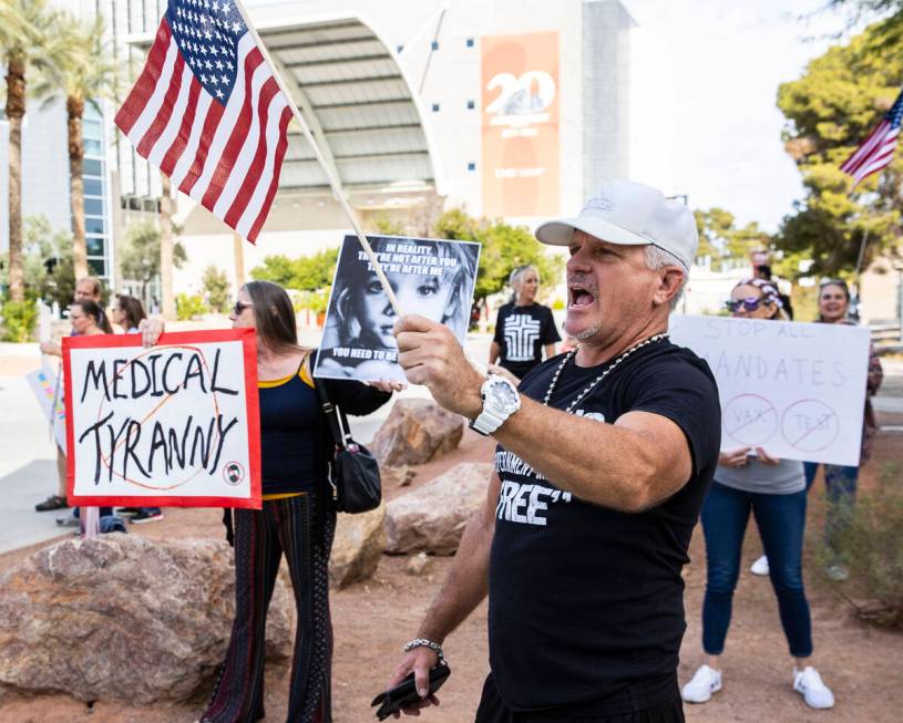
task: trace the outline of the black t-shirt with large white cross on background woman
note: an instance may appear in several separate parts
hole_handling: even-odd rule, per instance
[[[561,340],[548,307],[519,307],[510,301],[499,309],[493,338],[502,348],[499,365],[515,376],[523,379],[543,360],[543,347]]]

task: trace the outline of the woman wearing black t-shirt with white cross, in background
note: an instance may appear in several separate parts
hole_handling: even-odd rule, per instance
[[[536,303],[540,272],[534,266],[519,266],[509,277],[511,301],[502,304],[495,318],[495,337],[489,351],[490,369],[495,363],[517,380],[543,360],[555,355],[561,341],[552,309]]]

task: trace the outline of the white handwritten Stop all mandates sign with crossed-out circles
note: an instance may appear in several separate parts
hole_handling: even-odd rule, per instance
[[[674,314],[670,335],[704,358],[721,397],[721,448],[855,466],[869,330]]]

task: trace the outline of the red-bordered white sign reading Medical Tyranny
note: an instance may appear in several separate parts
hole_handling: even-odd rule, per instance
[[[75,505],[260,508],[253,329],[63,339]]]

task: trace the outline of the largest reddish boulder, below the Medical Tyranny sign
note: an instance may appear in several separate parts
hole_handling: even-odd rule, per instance
[[[291,655],[294,600],[277,580],[267,657]],[[101,535],[34,552],[0,577],[0,689],[81,701],[206,696],[235,611],[219,540]]]

